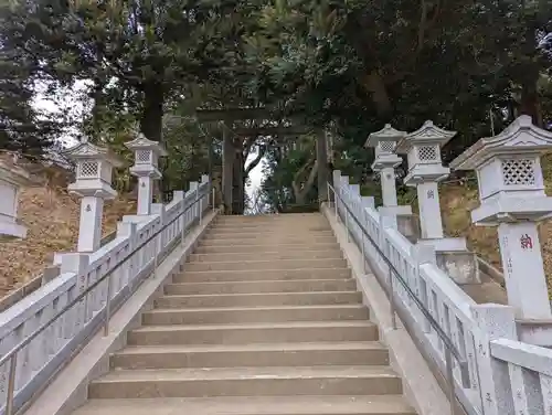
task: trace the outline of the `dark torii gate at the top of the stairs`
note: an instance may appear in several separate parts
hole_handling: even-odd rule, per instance
[[[223,121],[233,123],[235,120],[255,120],[269,119],[270,114],[266,108],[226,108],[226,109],[198,109],[197,116],[200,121]],[[232,132],[237,137],[296,137],[312,129],[299,126],[268,126],[268,127],[238,127]],[[317,135],[317,159],[323,162],[318,163],[318,190],[319,201],[323,202],[328,199],[328,143],[323,134]],[[223,146],[222,146],[222,200],[224,204],[224,213],[233,214],[233,189],[234,183],[234,161],[236,148],[233,143],[233,138],[230,135],[229,128],[223,129]]]

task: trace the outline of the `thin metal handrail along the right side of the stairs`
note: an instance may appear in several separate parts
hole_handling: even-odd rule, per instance
[[[416,304],[417,308],[424,315],[425,319],[429,322],[432,328],[435,330],[437,336],[439,337],[440,341],[443,342],[445,347],[445,369],[446,369],[446,382],[448,383],[448,393],[449,393],[449,402],[450,402],[450,407],[452,407],[452,414],[454,415],[456,412],[456,405],[454,401],[456,400],[456,391],[455,391],[455,381],[454,381],[454,373],[453,373],[453,357],[456,359],[458,362],[458,368],[460,369],[460,375],[461,375],[461,382],[465,387],[470,386],[470,380],[469,380],[469,365],[468,362],[461,357],[460,352],[454,344],[453,340],[448,337],[448,334],[443,330],[440,324],[438,323],[437,320],[432,316],[429,310],[425,307],[423,301],[417,297],[417,295],[410,288],[408,284],[404,280],[404,278],[399,274],[396,270],[395,266],[391,263],[391,260],[386,257],[384,252],[381,249],[381,247],[375,243],[375,241],[370,236],[368,233],[367,228],[364,225],[360,222],[360,220],[354,215],[354,213],[351,211],[351,209],[347,205],[344,200],[341,198],[341,195],[336,191],[333,185],[331,183],[328,183],[328,201],[330,201],[329,193],[333,192],[335,196],[339,199],[339,201],[342,203],[342,205],[346,208],[348,215],[346,215],[346,220],[350,215],[359,228],[362,231],[363,236],[368,238],[368,241],[372,244],[372,246],[375,248],[378,254],[383,258],[385,264],[389,267],[390,270],[390,287],[389,287],[389,297],[390,297],[390,305],[391,305],[391,316],[392,316],[392,326],[393,329],[396,329],[396,320],[395,320],[395,313],[399,315],[399,317],[404,321],[407,321],[405,318],[402,318],[401,315],[403,315],[403,310],[401,308],[396,308],[395,306],[395,300],[394,300],[394,294],[393,294],[393,275],[397,277],[401,285],[404,287],[406,290],[408,297],[414,300]],[[336,219],[339,220],[339,214],[338,214],[338,208],[336,203],[336,198],[333,199],[335,203],[335,210],[336,210]],[[348,224],[346,224],[346,230],[347,230],[347,237],[349,238],[349,227]],[[363,266],[365,266],[365,253],[364,253],[364,238],[361,241],[362,245],[362,262]],[[365,269],[364,269],[365,270]],[[458,402],[459,403],[459,402]]]

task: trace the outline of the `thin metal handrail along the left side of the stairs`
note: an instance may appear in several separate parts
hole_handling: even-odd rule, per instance
[[[199,191],[198,191],[199,193]],[[209,196],[209,192],[206,193]],[[18,353],[26,347],[32,340],[34,340],[40,333],[42,333],[44,330],[46,330],[50,326],[52,326],[57,319],[60,319],[63,315],[65,315],[70,309],[73,308],[77,302],[83,300],[93,289],[95,289],[99,284],[104,283],[107,279],[107,299],[106,299],[106,306],[105,306],[105,324],[104,324],[104,336],[107,336],[109,331],[109,318],[110,318],[110,286],[112,286],[112,278],[110,276],[119,269],[130,257],[132,257],[138,251],[140,251],[144,246],[149,244],[152,240],[155,240],[159,234],[161,234],[163,231],[166,231],[170,225],[172,225],[174,222],[177,222],[182,215],[184,215],[191,208],[195,206],[195,204],[200,201],[203,200],[205,194],[202,194],[201,196],[198,194],[195,200],[190,203],[182,212],[180,212],[177,216],[174,216],[170,222],[164,224],[160,230],[158,230],[156,233],[153,233],[150,237],[148,237],[146,241],[144,241],[140,245],[138,245],[136,248],[134,248],[125,258],[123,258],[121,262],[119,262],[117,265],[115,265],[109,272],[107,272],[102,278],[96,280],[94,284],[91,286],[86,287],[86,289],[81,292],[76,298],[74,298],[68,305],[66,305],[61,311],[59,311],[54,317],[52,317],[50,320],[44,322],[41,327],[39,327],[36,330],[34,330],[31,334],[25,337],[23,340],[21,340],[18,344],[15,344],[8,353],[0,357],[0,368],[10,361],[10,369],[9,369],[9,377],[8,377],[8,393],[6,396],[6,415],[12,415],[13,414],[13,394],[15,390],[15,370],[17,370],[17,362],[18,362]],[[185,200],[185,199],[184,199]],[[199,221],[200,224],[202,222],[202,211],[199,211]],[[181,240],[184,240],[184,224],[182,224],[182,235]],[[153,272],[157,268],[157,257],[159,253],[157,252],[156,248],[156,254],[153,257]]]

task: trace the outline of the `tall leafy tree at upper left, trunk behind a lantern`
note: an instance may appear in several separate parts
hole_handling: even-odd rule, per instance
[[[96,107],[136,114],[142,132],[161,140],[162,116],[182,87],[224,66],[215,28],[227,26],[232,1],[32,0],[1,10],[2,47],[36,78],[91,79]]]

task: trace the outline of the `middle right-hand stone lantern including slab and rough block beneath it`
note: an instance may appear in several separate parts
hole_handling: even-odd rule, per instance
[[[445,237],[440,215],[438,182],[446,179],[450,169],[442,164],[440,148],[456,131],[447,131],[432,121],[405,136],[396,151],[408,158],[408,173],[404,183],[415,187],[420,206],[422,245],[433,245],[437,254],[437,265],[457,284],[479,283],[477,259],[467,248],[464,237]]]

